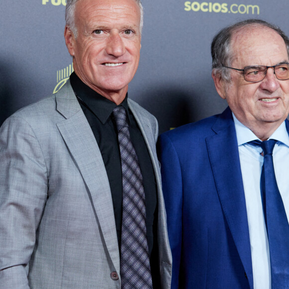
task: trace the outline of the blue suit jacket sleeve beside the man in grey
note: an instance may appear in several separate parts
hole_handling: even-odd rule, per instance
[[[167,215],[168,239],[172,253],[171,289],[178,289],[182,247],[182,176],[174,145],[166,135],[157,143],[161,164],[162,191]]]

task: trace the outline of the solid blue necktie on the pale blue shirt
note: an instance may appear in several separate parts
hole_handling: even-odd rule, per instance
[[[277,141],[253,141],[263,149],[264,163],[261,173],[261,196],[267,229],[272,289],[289,288],[289,224],[273,164],[273,148]]]

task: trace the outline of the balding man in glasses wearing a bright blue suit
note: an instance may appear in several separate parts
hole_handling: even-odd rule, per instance
[[[171,288],[289,288],[289,39],[250,19],[211,51],[229,107],[159,138]]]

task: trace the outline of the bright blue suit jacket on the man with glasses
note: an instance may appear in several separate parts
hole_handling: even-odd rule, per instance
[[[253,289],[246,202],[232,113],[159,137],[172,289]]]

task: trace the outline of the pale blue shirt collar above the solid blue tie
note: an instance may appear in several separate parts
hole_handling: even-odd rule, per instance
[[[233,113],[232,115],[233,115],[233,119],[235,123],[238,145],[242,145],[251,141],[259,140],[250,129],[248,129],[246,126],[244,126],[241,122],[237,120],[237,118],[235,117]],[[269,140],[270,139],[277,140],[289,146],[289,136],[288,136],[285,122],[283,122],[279,126],[279,128],[272,134]]]

